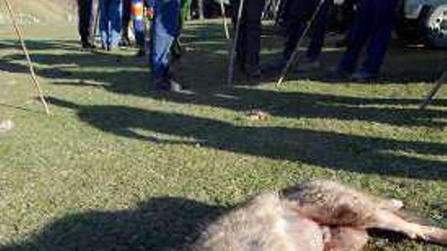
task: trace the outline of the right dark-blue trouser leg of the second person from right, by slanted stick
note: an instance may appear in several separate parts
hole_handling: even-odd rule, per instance
[[[308,61],[315,61],[320,56],[324,42],[327,23],[334,7],[334,0],[324,0],[313,24],[312,39],[306,52]]]

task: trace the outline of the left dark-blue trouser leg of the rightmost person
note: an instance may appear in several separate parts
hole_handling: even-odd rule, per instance
[[[385,1],[385,0],[379,0]],[[374,3],[372,0],[360,0],[358,3],[357,16],[353,28],[348,35],[348,44],[343,54],[338,69],[352,72],[356,69],[357,61],[363,46],[370,37],[374,26]]]

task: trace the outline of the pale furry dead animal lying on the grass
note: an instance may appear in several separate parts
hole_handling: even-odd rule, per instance
[[[299,184],[253,197],[205,228],[193,251],[354,251],[368,229],[447,245],[447,230],[411,223],[399,200],[371,196],[333,181]]]

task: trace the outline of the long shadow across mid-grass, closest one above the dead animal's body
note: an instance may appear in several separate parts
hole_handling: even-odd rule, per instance
[[[279,126],[237,126],[127,106],[83,106],[54,97],[49,101],[77,111],[82,121],[104,132],[157,144],[200,145],[335,170],[447,181],[447,162],[433,159],[447,154],[445,144]],[[420,155],[433,157],[429,159]]]

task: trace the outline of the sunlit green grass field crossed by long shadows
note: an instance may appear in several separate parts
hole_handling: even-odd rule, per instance
[[[157,94],[135,51],[80,52],[75,26],[27,27],[51,117],[12,29],[0,30],[0,251],[178,249],[252,194],[315,177],[405,202],[447,227],[447,87],[417,109],[447,52],[393,46],[375,83],[291,74],[226,86],[218,22],[190,23],[175,66],[189,94]],[[263,37],[262,59],[281,41]],[[328,44],[326,66],[341,51]],[[268,112],[251,120],[244,112]],[[367,250],[443,250],[375,238]]]

